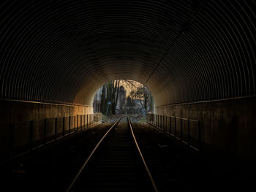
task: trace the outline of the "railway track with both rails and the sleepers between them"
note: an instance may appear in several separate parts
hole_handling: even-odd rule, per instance
[[[128,117],[100,139],[68,191],[158,191]]]

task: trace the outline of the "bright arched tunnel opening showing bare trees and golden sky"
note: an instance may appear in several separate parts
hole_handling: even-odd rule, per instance
[[[94,112],[104,115],[135,114],[153,112],[154,99],[145,85],[134,80],[112,80],[94,95]]]

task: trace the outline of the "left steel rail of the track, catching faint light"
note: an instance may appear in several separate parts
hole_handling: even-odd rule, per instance
[[[126,115],[121,116],[121,118],[126,117]],[[99,142],[97,143],[97,145],[94,147],[94,150],[91,151],[91,154],[89,155],[89,157],[86,159],[86,161],[83,163],[83,165],[80,167],[78,173],[75,175],[75,178],[72,180],[72,182],[69,184],[69,187],[67,188],[66,192],[69,192],[70,189],[72,188],[72,186],[75,184],[75,181],[78,179],[80,173],[83,171],[83,168],[86,166],[86,164],[88,164],[88,162],[90,161],[91,157],[94,155],[94,152],[97,150],[97,148],[99,147],[99,145],[102,143],[102,141],[105,139],[105,137],[108,136],[108,134],[110,133],[110,131],[112,130],[112,128],[114,126],[116,126],[116,124],[119,122],[119,120],[121,120],[121,118],[118,118],[118,120],[116,120],[115,123],[113,123],[113,126],[111,126],[108,131],[105,133],[105,135],[102,137],[102,139],[99,140]]]

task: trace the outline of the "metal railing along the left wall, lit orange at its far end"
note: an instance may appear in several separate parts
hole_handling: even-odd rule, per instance
[[[0,123],[0,164],[70,134],[95,126],[101,113],[46,118],[18,123]]]

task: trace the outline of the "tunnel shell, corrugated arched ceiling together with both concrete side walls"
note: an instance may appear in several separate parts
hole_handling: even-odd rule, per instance
[[[1,161],[56,127],[100,121],[94,93],[116,79],[151,91],[149,123],[195,120],[200,151],[255,161],[255,8],[247,0],[2,2]]]

